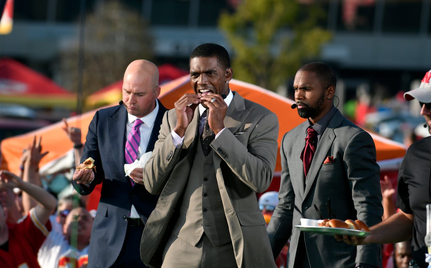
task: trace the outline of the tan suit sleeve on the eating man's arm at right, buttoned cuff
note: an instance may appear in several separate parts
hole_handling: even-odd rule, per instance
[[[223,131],[212,141],[211,147],[239,180],[255,192],[263,192],[268,189],[274,175],[277,139],[278,119],[269,112],[257,121],[247,147],[230,131]]]

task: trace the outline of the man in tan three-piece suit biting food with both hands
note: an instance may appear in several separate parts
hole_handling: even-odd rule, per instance
[[[224,47],[202,44],[189,64],[194,93],[165,114],[144,167],[145,187],[160,198],[141,259],[149,267],[275,267],[256,192],[272,180],[277,117],[230,90]]]

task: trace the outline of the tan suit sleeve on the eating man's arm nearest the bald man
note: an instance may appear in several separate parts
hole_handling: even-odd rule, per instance
[[[174,115],[175,116],[175,115]],[[169,111],[165,113],[153,153],[144,167],[144,185],[148,192],[158,195],[165,187],[182,148],[176,148],[172,142]]]

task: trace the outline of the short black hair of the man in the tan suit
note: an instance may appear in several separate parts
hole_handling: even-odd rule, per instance
[[[223,69],[228,69],[229,67],[231,67],[231,60],[229,59],[228,50],[226,50],[219,44],[205,43],[197,46],[191,52],[189,58],[189,67],[191,59],[200,57],[216,57],[217,64],[219,65],[219,67]]]

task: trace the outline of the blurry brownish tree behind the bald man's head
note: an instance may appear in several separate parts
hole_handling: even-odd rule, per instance
[[[71,42],[59,58],[59,79],[72,91],[79,85],[78,49],[78,40]],[[122,79],[133,60],[152,58],[153,38],[140,14],[119,1],[100,4],[85,22],[84,97]]]

